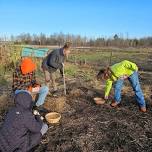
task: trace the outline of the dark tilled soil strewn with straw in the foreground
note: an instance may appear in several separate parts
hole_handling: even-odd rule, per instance
[[[68,106],[61,112],[61,121],[49,125],[34,152],[151,152],[152,101],[148,93],[147,113],[141,113],[133,95],[127,88],[121,105],[112,108],[111,100],[94,103],[93,97],[103,96],[102,91],[77,82],[67,85]]]

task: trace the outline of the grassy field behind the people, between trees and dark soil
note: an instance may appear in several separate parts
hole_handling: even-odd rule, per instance
[[[21,52],[25,45],[5,44],[0,45],[0,84],[5,85],[11,83],[12,71],[21,59]],[[32,46],[39,48],[40,46]],[[48,47],[49,52],[57,48],[57,46],[41,46]],[[43,77],[41,62],[42,58],[34,58],[37,63],[37,74],[40,79]],[[130,60],[135,62],[140,73],[152,72],[152,49],[151,48],[73,48],[71,54],[66,60],[65,73],[69,76],[75,76],[82,71],[83,67],[87,67],[87,73],[82,71],[86,79],[94,79],[96,72],[103,67],[115,64],[122,60]],[[89,68],[88,68],[89,67]],[[90,70],[90,72],[89,72]],[[43,81],[43,80],[42,80]],[[146,81],[149,81],[148,79]],[[151,82],[150,82],[151,83]],[[9,87],[9,86],[8,86]]]

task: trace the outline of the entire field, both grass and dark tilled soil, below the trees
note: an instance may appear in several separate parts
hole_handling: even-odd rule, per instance
[[[21,58],[22,45],[3,45],[0,50],[0,124],[14,104],[11,95],[12,72]],[[38,47],[38,46],[34,46]],[[50,51],[56,46],[49,47]],[[37,79],[44,84],[42,59],[37,63]],[[147,113],[139,112],[130,84],[122,90],[122,103],[113,109],[96,105],[93,97],[104,94],[103,82],[96,80],[100,68],[122,60],[139,66],[140,83],[147,102]],[[151,48],[72,48],[65,63],[67,96],[62,119],[50,125],[49,131],[35,152],[151,152],[152,151],[152,49]],[[46,107],[63,100],[63,81],[57,74],[58,98],[48,96]],[[111,96],[113,95],[113,89]],[[59,102],[58,101],[58,102]]]

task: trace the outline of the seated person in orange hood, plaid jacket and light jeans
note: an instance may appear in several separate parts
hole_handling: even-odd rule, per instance
[[[13,73],[12,89],[15,94],[19,92],[38,94],[36,106],[42,108],[41,106],[43,105],[45,97],[48,94],[48,87],[38,84],[36,81],[35,71],[36,64],[32,61],[31,58],[22,59],[20,65]]]

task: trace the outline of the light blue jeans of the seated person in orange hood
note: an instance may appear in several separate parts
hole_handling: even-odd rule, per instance
[[[29,94],[31,94],[31,92],[29,92],[27,90],[16,90],[15,95],[20,92],[28,92]],[[38,100],[36,101],[37,107],[44,103],[45,97],[47,96],[48,92],[49,92],[49,88],[47,86],[40,87],[40,90],[38,92],[39,97],[38,97]]]

